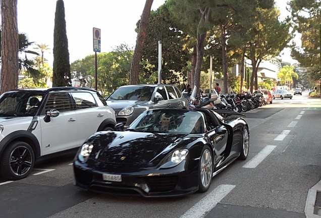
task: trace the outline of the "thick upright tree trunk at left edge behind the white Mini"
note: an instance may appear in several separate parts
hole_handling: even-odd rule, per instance
[[[1,0],[1,57],[0,94],[18,88],[19,75],[19,33],[17,21],[17,0]]]

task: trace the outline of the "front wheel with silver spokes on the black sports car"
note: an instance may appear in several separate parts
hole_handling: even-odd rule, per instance
[[[213,177],[213,155],[208,146],[204,146],[198,167],[198,191],[206,192]]]

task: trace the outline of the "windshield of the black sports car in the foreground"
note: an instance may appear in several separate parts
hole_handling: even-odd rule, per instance
[[[198,134],[205,132],[201,113],[187,110],[155,109],[142,113],[128,131]]]

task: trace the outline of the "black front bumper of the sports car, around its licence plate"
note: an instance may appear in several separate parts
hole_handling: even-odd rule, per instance
[[[97,169],[89,169],[74,162],[76,186],[100,193],[116,193],[144,197],[171,197],[194,193],[198,190],[198,160],[185,160],[172,169],[146,169],[139,173],[121,174],[121,182],[103,180]]]

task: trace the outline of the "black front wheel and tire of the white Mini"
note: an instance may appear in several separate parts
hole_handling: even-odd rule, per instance
[[[31,173],[34,162],[34,151],[29,144],[13,142],[1,158],[1,175],[8,180],[24,179]]]

